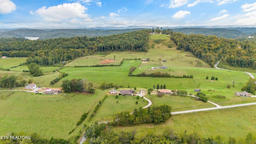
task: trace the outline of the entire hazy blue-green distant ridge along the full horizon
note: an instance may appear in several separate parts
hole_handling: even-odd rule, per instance
[[[144,27],[144,28],[141,28]],[[207,26],[205,26],[207,27]],[[117,29],[120,28],[120,29]],[[126,29],[124,29],[126,28]],[[121,34],[132,32],[136,30],[152,29],[154,26],[128,26],[128,27],[95,27],[95,28],[73,28],[73,29],[0,29],[0,38],[25,38],[40,37],[40,39],[48,38],[70,38],[74,36],[108,36],[112,34]],[[245,38],[250,35],[255,36],[256,28],[250,27],[237,27],[237,28],[202,28],[202,27],[158,27],[159,29],[170,28],[174,32],[182,32],[184,34],[203,34],[203,35],[216,35],[224,38]]]

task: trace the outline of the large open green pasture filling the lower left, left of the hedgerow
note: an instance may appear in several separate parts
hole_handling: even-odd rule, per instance
[[[0,92],[0,135],[23,131],[43,138],[68,139],[82,129],[76,128],[84,112],[92,112],[106,91],[95,94],[44,95],[31,92]],[[69,132],[76,130],[69,135]]]

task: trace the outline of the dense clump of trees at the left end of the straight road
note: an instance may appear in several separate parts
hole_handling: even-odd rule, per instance
[[[114,115],[113,126],[127,126],[135,124],[166,122],[171,117],[171,107],[168,105],[150,106],[148,108],[134,109],[133,113],[128,111],[119,112]]]

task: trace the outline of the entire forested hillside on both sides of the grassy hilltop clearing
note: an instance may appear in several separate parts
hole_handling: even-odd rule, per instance
[[[160,29],[154,30],[160,32]],[[140,30],[124,34],[99,37],[72,37],[46,40],[26,40],[23,38],[0,39],[0,56],[28,57],[27,63],[54,65],[66,60],[113,51],[146,52],[149,33]],[[230,66],[256,69],[256,44],[254,40],[234,40],[205,36],[202,34],[182,34],[172,30],[162,30],[171,35],[177,49],[191,52],[210,66],[221,60]]]

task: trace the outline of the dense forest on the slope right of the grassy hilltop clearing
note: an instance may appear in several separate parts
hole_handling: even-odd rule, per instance
[[[178,32],[172,34],[171,40],[177,49],[191,52],[212,67],[220,60],[230,66],[256,69],[256,45],[252,42]]]

